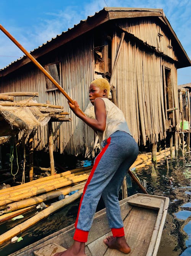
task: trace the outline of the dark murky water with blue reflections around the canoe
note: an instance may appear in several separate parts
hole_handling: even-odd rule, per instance
[[[165,168],[165,161],[158,163],[157,176],[151,176],[151,167],[139,169],[138,177],[147,185],[149,194],[162,195],[170,198],[165,227],[157,256],[191,256],[191,154],[184,161],[169,162],[169,169]],[[169,182],[171,178],[171,182]],[[173,183],[172,183],[173,180]],[[141,193],[139,187],[132,183],[128,188],[128,195]],[[21,234],[23,240],[19,243],[6,243],[0,248],[0,255],[7,256],[10,253],[34,243],[35,241],[50,235],[74,223],[79,200],[69,206],[53,213],[45,220],[40,221],[34,227]],[[97,210],[103,207],[102,201]],[[24,215],[24,219],[6,221],[0,225],[0,233],[10,230],[14,226],[27,220],[37,210],[30,211]]]

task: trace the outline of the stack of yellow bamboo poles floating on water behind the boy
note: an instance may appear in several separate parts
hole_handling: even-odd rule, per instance
[[[157,152],[157,161],[170,154],[170,148]],[[141,168],[151,164],[151,153],[139,154],[131,168]],[[18,216],[26,211],[35,208],[36,204],[79,190],[68,198],[57,201],[44,210],[32,216],[23,223],[0,235],[0,244],[20,234],[38,221],[57,211],[65,205],[80,197],[83,193],[85,181],[92,166],[76,168],[74,170],[51,175],[38,180],[0,190],[0,206],[5,208],[1,213],[0,222]],[[73,186],[71,186],[73,185]]]

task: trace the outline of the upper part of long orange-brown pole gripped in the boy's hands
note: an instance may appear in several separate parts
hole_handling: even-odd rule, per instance
[[[58,88],[58,90],[60,92],[62,92],[62,94],[66,97],[66,99],[68,99],[68,101],[71,104],[74,104],[73,99],[71,99],[71,97],[65,92],[65,90],[60,86],[60,84],[57,83],[57,81],[43,68],[43,66],[40,65],[40,63],[28,52],[26,51],[22,45],[19,44],[18,41],[16,41],[16,39],[11,36],[11,34],[5,29],[3,28],[2,25],[0,25],[0,30],[3,31],[3,33],[5,33],[6,36],[8,36],[8,38],[10,38],[11,41],[13,41],[13,43],[15,43],[16,46],[18,46],[18,48],[23,51],[23,53],[28,56],[28,58],[45,74],[45,76],[47,76],[47,78],[50,79],[50,81]],[[79,109],[81,111],[82,114],[84,114],[84,112]],[[85,116],[85,114],[84,114]]]

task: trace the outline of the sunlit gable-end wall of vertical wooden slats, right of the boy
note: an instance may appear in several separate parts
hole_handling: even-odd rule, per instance
[[[159,33],[157,24],[146,20],[136,24],[120,23],[119,26],[137,38],[147,41],[151,46],[157,47],[156,38]],[[162,33],[161,30],[160,33]],[[160,51],[166,50],[163,53],[168,53],[176,60],[172,48],[168,50],[167,36],[164,35],[164,38],[165,40],[160,44]],[[112,40],[112,64],[119,42],[120,35],[115,33]],[[167,61],[154,52],[149,52],[147,48],[139,49],[132,39],[129,41],[128,36],[125,37],[114,74],[113,86],[117,88],[118,106],[124,112],[129,129],[139,144],[146,145],[147,139],[154,143],[166,137],[163,65],[171,71],[172,107],[178,109],[177,71],[173,61]],[[178,110],[173,112],[173,115],[173,126],[176,126],[179,123]]]

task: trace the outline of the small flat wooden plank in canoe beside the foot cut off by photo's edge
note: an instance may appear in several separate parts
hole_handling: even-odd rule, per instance
[[[61,253],[62,251],[66,251],[66,248],[63,248],[57,243],[52,243],[47,244],[46,246],[34,251],[33,253],[35,256],[53,256],[55,253]]]

